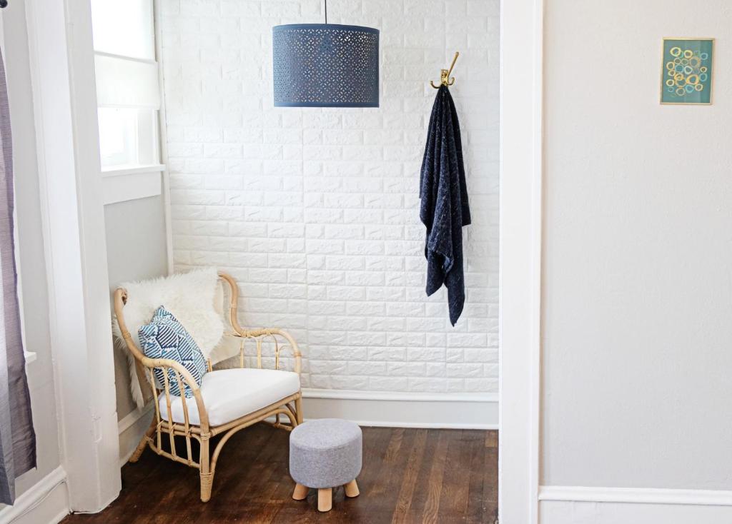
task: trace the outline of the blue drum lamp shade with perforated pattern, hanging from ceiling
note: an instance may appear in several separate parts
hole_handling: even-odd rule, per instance
[[[378,29],[275,26],[272,49],[275,106],[378,107]]]

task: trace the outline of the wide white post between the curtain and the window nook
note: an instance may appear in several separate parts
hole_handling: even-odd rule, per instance
[[[122,484],[91,7],[25,4],[61,463],[70,508],[96,512]]]

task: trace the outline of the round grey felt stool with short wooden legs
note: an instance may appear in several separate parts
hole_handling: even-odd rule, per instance
[[[290,474],[296,482],[292,498],[302,501],[307,488],[318,489],[318,509],[330,511],[333,487],[345,486],[347,497],[359,495],[361,428],[341,419],[308,420],[290,433]]]

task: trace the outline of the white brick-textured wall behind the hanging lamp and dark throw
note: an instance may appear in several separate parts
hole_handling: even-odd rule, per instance
[[[337,0],[329,21],[381,29],[381,107],[275,109],[272,26],[319,0],[163,0],[178,269],[217,265],[243,321],[284,327],[306,387],[496,392],[498,0]],[[438,80],[463,128],[473,225],[455,327],[425,296],[419,167]]]

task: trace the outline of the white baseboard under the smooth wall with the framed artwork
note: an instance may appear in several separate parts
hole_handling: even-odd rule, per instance
[[[539,486],[541,524],[728,524],[732,491]]]

